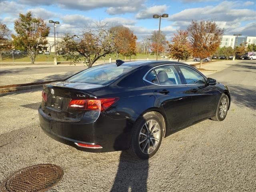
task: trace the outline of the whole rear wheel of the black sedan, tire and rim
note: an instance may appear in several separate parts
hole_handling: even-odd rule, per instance
[[[144,114],[133,127],[129,152],[140,159],[148,159],[158,151],[163,137],[164,122],[157,112]]]

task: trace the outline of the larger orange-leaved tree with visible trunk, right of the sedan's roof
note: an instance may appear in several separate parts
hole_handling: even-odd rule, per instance
[[[188,39],[192,48],[192,55],[200,58],[200,68],[202,59],[216,52],[220,46],[220,41],[224,29],[218,28],[212,21],[193,21],[188,26]]]

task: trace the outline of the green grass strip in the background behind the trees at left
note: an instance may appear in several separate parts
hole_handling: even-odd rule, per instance
[[[122,55],[118,55],[118,57],[116,56],[116,54],[111,54],[111,55],[107,55],[100,59],[98,59],[99,61],[103,61],[105,59],[105,61],[107,62],[109,60],[109,58],[112,58],[112,61],[120,59],[120,60],[129,60],[130,57],[124,57]],[[135,59],[147,59],[148,55],[147,54],[136,54],[135,56],[131,56],[131,60],[135,60]],[[150,55],[149,54],[149,59],[155,59],[156,56],[155,55]],[[45,55],[45,54],[38,54],[36,56],[36,62],[53,62],[54,60],[54,53],[51,53],[50,55]],[[57,58],[58,62],[62,62],[62,61],[66,61],[64,56],[59,55]],[[81,60],[84,60],[84,57],[81,56]],[[12,54],[4,54],[2,56],[2,62],[12,62]],[[14,54],[14,62],[30,62],[30,58],[28,56],[26,56],[25,54]]]

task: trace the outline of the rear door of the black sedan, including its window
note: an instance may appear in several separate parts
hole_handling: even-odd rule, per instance
[[[164,108],[170,129],[188,125],[192,100],[188,87],[182,85],[174,65],[155,67],[148,72],[144,80]]]

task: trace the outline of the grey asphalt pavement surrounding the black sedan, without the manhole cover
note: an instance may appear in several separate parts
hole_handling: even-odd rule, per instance
[[[230,61],[209,77],[230,88],[226,119],[168,136],[149,160],[82,152],[52,140],[39,127],[41,89],[1,94],[1,183],[21,168],[49,163],[64,170],[49,192],[256,191],[256,61]]]

